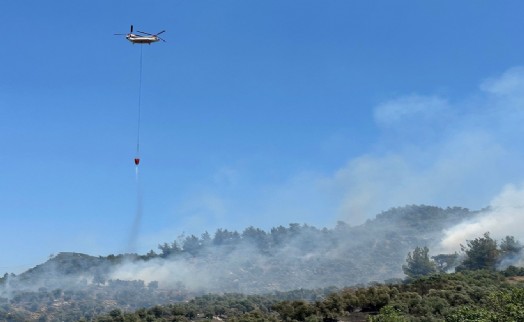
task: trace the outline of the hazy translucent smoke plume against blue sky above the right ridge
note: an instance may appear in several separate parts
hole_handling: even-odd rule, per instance
[[[524,68],[485,80],[461,99],[410,94],[374,110],[381,139],[333,177],[340,218],[403,204],[479,209],[524,181]]]

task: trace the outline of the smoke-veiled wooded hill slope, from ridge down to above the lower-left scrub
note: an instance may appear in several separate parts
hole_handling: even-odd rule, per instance
[[[178,237],[146,255],[60,253],[9,285],[67,288],[119,279],[157,281],[163,289],[261,293],[383,281],[403,275],[401,265],[415,246],[431,247],[443,229],[474,215],[464,208],[406,206],[358,226],[218,229],[213,236]]]

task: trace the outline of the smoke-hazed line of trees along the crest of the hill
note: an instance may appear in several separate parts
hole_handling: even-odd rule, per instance
[[[129,257],[149,260],[153,258],[172,258],[176,256],[201,256],[212,249],[233,250],[238,246],[250,245],[262,254],[272,254],[281,250],[282,246],[294,246],[302,251],[316,249],[333,249],[341,243],[347,246],[360,246],[378,236],[375,232],[385,232],[388,238],[408,236],[435,237],[442,229],[471,218],[477,212],[466,208],[440,208],[426,205],[410,205],[391,208],[382,212],[375,219],[370,219],[363,225],[350,226],[339,221],[333,229],[316,228],[307,224],[291,223],[288,227],[273,227],[269,231],[250,226],[242,232],[219,228],[213,235],[204,232],[200,236],[183,235],[172,242],[158,245],[158,252],[151,250],[145,255],[124,254],[109,255],[108,259],[119,262]],[[374,238],[370,238],[370,235]]]

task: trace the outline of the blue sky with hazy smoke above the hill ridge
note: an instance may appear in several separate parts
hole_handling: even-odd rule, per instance
[[[182,233],[487,206],[523,182],[520,1],[8,1],[0,269]]]

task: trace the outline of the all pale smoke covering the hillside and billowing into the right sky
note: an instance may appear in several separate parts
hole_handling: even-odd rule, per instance
[[[401,276],[400,265],[405,254],[415,246],[434,246],[437,251],[452,252],[465,240],[485,232],[497,239],[506,235],[522,239],[518,223],[524,219],[521,212],[524,188],[515,185],[524,180],[520,176],[524,173],[522,93],[524,68],[517,67],[483,81],[478,91],[465,98],[409,94],[387,100],[374,109],[374,120],[382,135],[367,153],[352,158],[331,175],[297,174],[281,189],[271,189],[277,191],[274,195],[265,195],[269,206],[261,207],[259,214],[252,210],[254,217],[266,217],[268,212],[272,216],[295,214],[299,211],[289,209],[289,205],[296,205],[304,213],[309,214],[313,209],[317,217],[337,214],[345,222],[355,224],[399,204],[470,208],[489,204],[488,209],[475,216],[455,218],[438,229],[433,227],[431,232],[420,226],[417,227],[422,232],[406,230],[406,226],[399,226],[394,220],[348,228],[334,239],[324,238],[321,231],[302,235],[305,230],[294,236],[298,239],[286,240],[285,250],[271,249],[271,256],[267,250],[257,252],[260,249],[242,242],[233,249],[221,245],[205,257],[124,265],[112,277],[140,276],[145,280],[162,277],[166,285],[179,279],[195,287],[211,284],[224,289],[221,281],[227,276],[234,283],[226,289],[251,292],[259,288],[304,287],[301,281],[310,287],[340,285],[337,280],[326,280],[327,275],[340,275],[317,264],[327,261],[332,267],[341,261],[339,265],[351,268],[353,274],[343,275],[345,283],[362,283]],[[502,187],[505,188],[500,192]],[[222,199],[217,197],[219,201]],[[235,207],[235,202],[219,204]],[[275,205],[284,210],[277,211]],[[246,209],[227,211],[250,213]],[[407,227],[412,224],[401,222]],[[362,233],[362,227],[366,227],[366,233]],[[332,233],[336,235],[337,229]],[[315,247],[304,249],[304,244],[297,240],[313,241]],[[369,251],[362,251],[364,247]],[[374,247],[381,249],[380,252],[375,252]],[[369,258],[374,256],[386,256],[388,260],[385,265],[370,264],[374,261]],[[276,274],[280,271],[275,267],[279,266],[288,271]],[[246,273],[251,272],[246,267],[256,268],[257,273]],[[279,276],[278,282],[264,281],[256,286],[247,282],[262,281],[265,272]],[[324,280],[317,283],[317,277]]]

